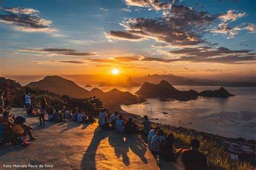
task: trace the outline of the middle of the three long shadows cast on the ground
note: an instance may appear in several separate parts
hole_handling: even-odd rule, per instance
[[[124,141],[124,133],[112,131],[112,133],[109,134],[109,144],[114,148],[114,153],[117,158],[122,156],[123,163],[126,166],[130,165],[130,159],[127,155],[127,152],[129,152],[129,146]]]

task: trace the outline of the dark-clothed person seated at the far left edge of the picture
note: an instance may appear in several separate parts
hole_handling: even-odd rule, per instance
[[[14,116],[12,116],[12,118],[14,118]],[[17,145],[18,144],[17,140],[11,130],[12,127],[14,126],[14,121],[10,118],[9,111],[3,112],[3,116],[0,117],[0,125],[2,125],[2,128],[3,128],[2,129],[3,145],[8,144],[9,142],[11,142],[13,145]],[[1,140],[1,137],[0,137],[0,140]]]

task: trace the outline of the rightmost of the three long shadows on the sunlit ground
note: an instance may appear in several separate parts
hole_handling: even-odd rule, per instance
[[[140,141],[138,141],[132,134],[125,134],[125,143],[129,146],[131,151],[138,155],[138,157],[147,164],[147,158],[145,157],[146,146],[144,146]]]

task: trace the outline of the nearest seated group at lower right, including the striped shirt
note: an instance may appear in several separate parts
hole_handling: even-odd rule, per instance
[[[147,144],[150,151],[157,158],[159,164],[160,157],[166,161],[176,162],[181,155],[181,161],[183,162],[185,169],[205,169],[207,167],[206,155],[199,152],[200,141],[197,139],[191,139],[190,149],[183,150],[182,148],[173,149],[174,136],[172,133],[168,133],[164,137],[164,131],[160,127],[154,129],[151,128],[151,123],[147,116],[144,116],[140,124],[143,124],[143,134],[147,139]]]

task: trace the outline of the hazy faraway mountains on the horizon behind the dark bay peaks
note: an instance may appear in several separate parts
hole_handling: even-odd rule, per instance
[[[161,80],[165,80],[174,86],[226,86],[226,87],[255,87],[256,83],[250,82],[223,82],[223,81],[212,81],[208,79],[188,79],[182,76],[175,76],[173,74],[168,75],[147,75],[143,77],[132,77],[134,82],[143,84],[144,82],[158,83]]]

